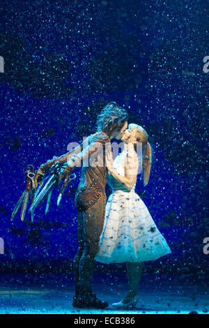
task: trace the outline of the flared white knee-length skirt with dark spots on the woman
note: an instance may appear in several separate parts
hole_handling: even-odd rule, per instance
[[[171,253],[143,200],[134,191],[114,191],[106,204],[100,249],[102,263],[144,262]]]

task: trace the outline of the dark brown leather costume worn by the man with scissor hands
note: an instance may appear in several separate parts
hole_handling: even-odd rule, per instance
[[[59,158],[54,156],[52,161],[48,161],[38,170],[40,174],[45,173],[56,161],[64,163],[72,156],[78,156],[82,164],[86,158],[89,158],[89,165],[82,166],[81,179],[75,195],[79,239],[79,248],[73,264],[76,296],[91,294],[94,258],[98,252],[100,234],[104,225],[107,183],[105,149],[111,149],[110,146],[109,136],[104,132],[98,132],[88,137],[88,147],[84,147],[83,142],[80,147]],[[94,161],[93,165],[91,165],[91,158]]]

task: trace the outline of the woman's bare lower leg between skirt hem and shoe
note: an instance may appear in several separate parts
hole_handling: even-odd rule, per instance
[[[128,279],[128,292],[124,300],[128,300],[137,296],[137,289],[141,279],[142,262],[126,262],[127,279]]]

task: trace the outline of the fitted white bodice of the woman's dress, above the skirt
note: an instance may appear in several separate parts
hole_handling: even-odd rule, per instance
[[[119,154],[113,162],[113,168],[114,170],[116,170],[118,172],[118,174],[121,174],[123,177],[125,176],[125,158],[127,156],[127,151],[123,150],[123,152],[121,154]],[[112,191],[129,191],[127,188],[125,188],[125,186],[123,184],[121,184],[120,181],[118,181],[117,179],[115,179],[109,172],[107,173],[107,183],[109,184],[109,186],[111,187]],[[136,181],[134,182],[134,186],[132,186],[130,191],[135,191],[135,186],[137,184],[137,177],[136,177]]]

